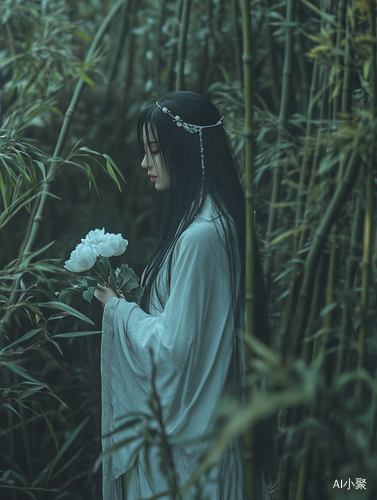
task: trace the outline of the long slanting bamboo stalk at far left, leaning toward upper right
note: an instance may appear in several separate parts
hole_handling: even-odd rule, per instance
[[[111,21],[113,20],[115,14],[118,12],[119,8],[122,6],[123,3],[124,3],[124,0],[118,0],[118,2],[116,4],[114,4],[114,6],[110,10],[110,12],[107,14],[105,19],[102,21],[102,24],[99,27],[99,29],[96,33],[96,36],[94,37],[93,42],[89,48],[85,62],[89,62],[91,60],[91,58],[93,57],[95,51],[98,48],[99,43],[101,42],[103,36],[105,35],[107,29],[110,26]],[[80,78],[80,80],[78,81],[78,83],[76,85],[73,97],[72,97],[71,102],[68,106],[66,114],[64,116],[63,125],[62,125],[62,128],[60,130],[60,134],[59,134],[58,141],[57,141],[57,144],[55,147],[53,158],[58,158],[61,155],[65,140],[66,140],[67,135],[68,135],[70,125],[72,123],[74,112],[76,110],[77,104],[78,104],[80,97],[82,95],[82,92],[85,88],[85,85],[86,85],[86,82],[82,78]],[[36,210],[35,215],[33,216],[33,221],[30,225],[31,226],[30,231],[26,234],[24,241],[21,245],[20,253],[19,253],[20,259],[31,252],[32,247],[35,243],[35,240],[36,240],[36,237],[38,234],[38,230],[39,230],[39,226],[40,226],[41,221],[42,221],[43,211],[44,211],[44,208],[45,208],[45,205],[47,202],[47,198],[49,196],[50,186],[51,186],[52,180],[53,180],[53,178],[58,170],[58,166],[59,166],[58,161],[55,160],[55,161],[51,162],[48,173],[47,173],[47,175],[42,183],[41,196],[40,196],[39,200],[36,201],[36,205],[38,208]],[[2,345],[2,339],[4,337],[4,327],[9,323],[10,317],[12,315],[12,308],[10,306],[12,306],[15,303],[15,301],[17,300],[20,279],[21,279],[21,277],[19,277],[17,280],[14,281],[14,284],[12,286],[12,291],[11,291],[9,301],[8,301],[8,309],[6,310],[3,318],[0,321],[0,345]]]

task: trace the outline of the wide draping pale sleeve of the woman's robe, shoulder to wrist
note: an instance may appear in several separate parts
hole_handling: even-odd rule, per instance
[[[227,254],[216,224],[194,224],[177,241],[170,295],[159,316],[123,299],[113,299],[105,308],[104,323],[112,314],[113,421],[130,412],[149,413],[152,352],[168,434],[193,439],[210,431],[235,336]],[[130,433],[114,437],[114,444]],[[137,443],[131,443],[114,455],[116,476],[132,466],[136,449]]]

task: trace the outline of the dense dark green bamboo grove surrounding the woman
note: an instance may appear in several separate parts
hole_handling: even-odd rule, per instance
[[[220,407],[198,473],[246,432],[255,498],[254,424],[277,414],[272,498],[377,498],[376,3],[4,0],[0,23],[1,498],[101,498],[101,311],[56,292],[96,227],[141,274],[162,203],[135,118],[175,88],[225,115],[248,205],[246,403]],[[271,349],[254,338],[253,223]]]

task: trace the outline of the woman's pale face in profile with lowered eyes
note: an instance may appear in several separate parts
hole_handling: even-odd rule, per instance
[[[145,154],[141,166],[147,169],[148,176],[151,182],[154,182],[157,191],[165,191],[170,188],[170,175],[164,166],[160,146],[145,127],[143,127],[142,139]]]

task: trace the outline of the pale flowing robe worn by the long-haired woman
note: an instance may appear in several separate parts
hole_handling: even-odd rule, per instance
[[[220,216],[206,210],[180,236],[173,249],[170,295],[165,308],[152,296],[151,314],[137,304],[112,298],[104,310],[101,350],[102,434],[113,431],[130,413],[150,414],[151,357],[155,384],[169,436],[193,440],[213,429],[216,403],[230,383],[241,385],[243,345],[234,332],[229,266]],[[164,290],[166,268],[157,286]],[[130,418],[130,417],[129,417]],[[128,428],[103,439],[106,450],[138,430]],[[140,439],[130,441],[103,464],[104,500],[121,500],[121,475],[132,468],[127,498],[141,500],[168,489],[160,472],[159,450],[151,448],[147,474]],[[174,448],[178,482],[195,470],[207,443]],[[232,443],[204,484],[210,500],[244,500],[242,440]],[[192,498],[192,491],[185,498]],[[169,497],[163,496],[163,499]]]

